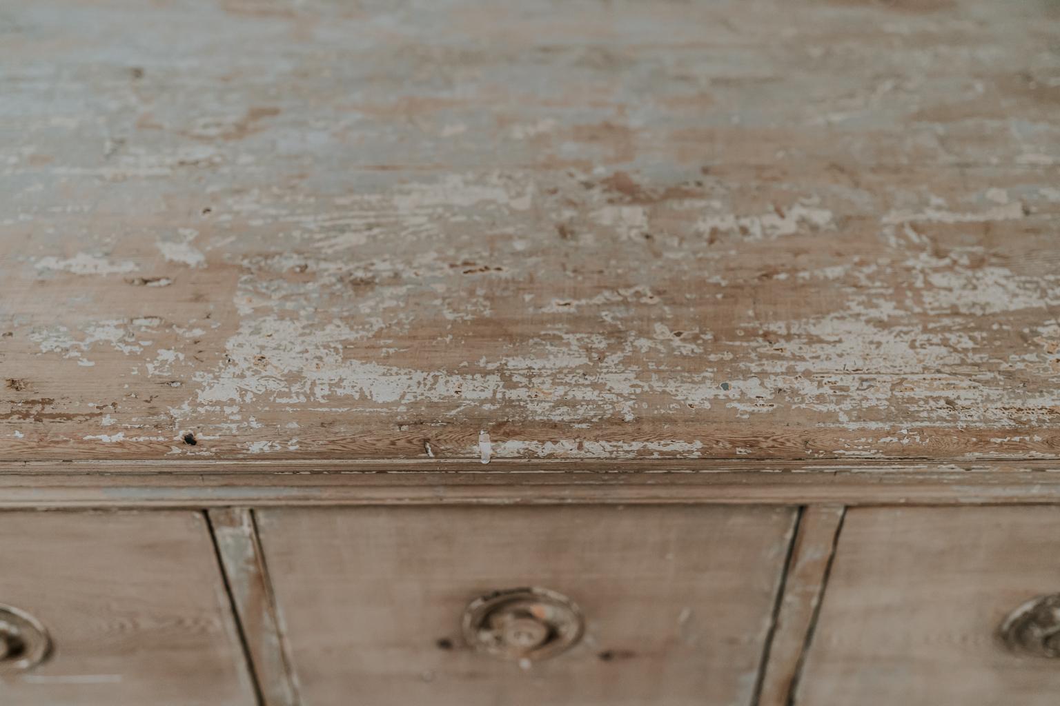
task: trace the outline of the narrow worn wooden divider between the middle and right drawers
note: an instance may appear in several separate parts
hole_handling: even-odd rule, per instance
[[[792,703],[845,511],[842,505],[820,505],[799,514],[755,706]]]

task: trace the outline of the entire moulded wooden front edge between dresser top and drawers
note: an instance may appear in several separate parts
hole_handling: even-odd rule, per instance
[[[1060,461],[0,464],[0,508],[633,503],[1060,503]]]

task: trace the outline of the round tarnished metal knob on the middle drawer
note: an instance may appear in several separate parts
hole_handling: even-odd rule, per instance
[[[582,613],[572,600],[547,589],[495,591],[473,600],[463,614],[469,645],[505,659],[555,656],[582,636]]]

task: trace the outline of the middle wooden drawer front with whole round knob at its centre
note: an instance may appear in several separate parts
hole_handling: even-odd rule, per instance
[[[750,703],[793,521],[350,508],[264,510],[259,528],[305,703],[702,706]],[[519,587],[552,593],[475,602]]]

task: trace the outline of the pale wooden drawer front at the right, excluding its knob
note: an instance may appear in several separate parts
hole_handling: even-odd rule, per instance
[[[850,510],[796,703],[1053,706],[1060,659],[1000,627],[1057,592],[1060,508]]]

